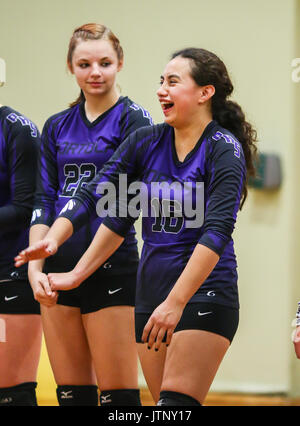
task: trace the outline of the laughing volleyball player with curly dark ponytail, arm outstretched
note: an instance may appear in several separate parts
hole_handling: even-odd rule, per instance
[[[129,184],[143,183],[146,206],[156,214],[143,217],[136,339],[149,389],[161,406],[203,404],[238,327],[232,233],[254,174],[256,132],[229,99],[232,91],[215,54],[197,48],[176,52],[158,90],[165,122],[130,135],[45,239],[16,258],[19,265],[55,253],[96,215],[96,207],[99,211],[99,184],[118,187],[119,173]],[[154,192],[154,181],[181,185],[165,198],[163,191]],[[186,188],[196,184],[204,188],[202,203],[195,191],[185,199]],[[195,217],[183,208],[191,199]],[[122,243],[133,220],[107,217],[72,271],[49,274],[52,290],[76,288]]]

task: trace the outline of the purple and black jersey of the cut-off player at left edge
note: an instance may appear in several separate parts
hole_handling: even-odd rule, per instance
[[[28,246],[40,135],[19,112],[0,108],[0,280],[27,278],[14,257]]]

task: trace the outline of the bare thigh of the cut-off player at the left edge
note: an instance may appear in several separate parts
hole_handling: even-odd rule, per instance
[[[40,359],[40,315],[0,314],[0,387],[35,382]]]

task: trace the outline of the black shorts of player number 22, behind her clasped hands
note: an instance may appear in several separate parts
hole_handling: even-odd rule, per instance
[[[81,314],[89,314],[109,306],[134,306],[135,289],[136,273],[107,277],[95,273],[79,287],[60,291],[57,303],[80,308]]]

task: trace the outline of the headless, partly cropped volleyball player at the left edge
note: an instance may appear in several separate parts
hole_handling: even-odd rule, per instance
[[[0,407],[37,405],[40,305],[14,252],[28,244],[39,143],[28,118],[0,105]]]

